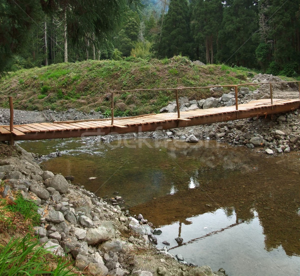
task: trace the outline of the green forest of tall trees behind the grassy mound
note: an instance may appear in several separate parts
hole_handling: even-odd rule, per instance
[[[0,75],[87,59],[187,56],[297,76],[300,0],[0,0]]]

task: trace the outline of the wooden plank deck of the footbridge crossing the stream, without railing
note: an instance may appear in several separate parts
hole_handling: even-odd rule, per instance
[[[266,116],[298,108],[300,108],[300,99],[273,99],[272,105],[270,99],[259,99],[239,104],[238,110],[236,110],[235,105],[232,105],[181,111],[180,118],[175,112],[114,118],[113,124],[111,124],[110,119],[28,123],[13,125],[12,131],[9,130],[9,125],[0,125],[0,141],[9,141],[11,135],[13,135],[14,140],[38,140],[153,131]]]

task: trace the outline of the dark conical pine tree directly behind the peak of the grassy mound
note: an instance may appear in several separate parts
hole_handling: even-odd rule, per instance
[[[161,41],[154,48],[160,57],[188,55],[190,43],[188,3],[186,0],[170,0],[161,30]]]

